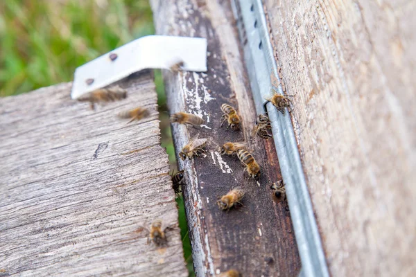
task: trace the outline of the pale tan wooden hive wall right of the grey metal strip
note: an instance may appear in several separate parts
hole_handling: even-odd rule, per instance
[[[264,2],[331,274],[415,276],[415,1]]]

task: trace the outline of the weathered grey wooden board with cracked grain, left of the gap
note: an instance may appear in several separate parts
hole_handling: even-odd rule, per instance
[[[89,109],[71,83],[0,99],[0,276],[187,276],[149,73]],[[126,124],[120,111],[151,114]],[[139,227],[173,224],[168,247]]]

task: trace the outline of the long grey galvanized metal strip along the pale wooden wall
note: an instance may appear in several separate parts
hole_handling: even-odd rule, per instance
[[[232,8],[238,22],[241,41],[244,44],[245,62],[248,67],[257,113],[262,114],[264,112],[263,104],[266,102],[264,98],[270,96],[272,88],[270,75],[275,75],[275,78],[279,80],[263,4],[261,0],[233,0]],[[284,94],[281,84],[275,89],[278,93]],[[329,271],[313,215],[291,117],[287,109],[286,116],[283,116],[271,103],[268,103],[266,107],[272,123],[277,157],[279,157],[297,247],[302,260],[300,275],[327,277]]]

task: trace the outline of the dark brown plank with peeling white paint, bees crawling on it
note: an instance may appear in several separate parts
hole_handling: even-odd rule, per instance
[[[272,201],[270,185],[281,179],[272,140],[252,141],[256,119],[234,17],[228,1],[150,1],[157,33],[206,37],[205,73],[164,72],[171,114],[187,111],[206,120],[207,127],[173,124],[175,149],[180,152],[199,134],[209,139],[207,154],[182,162],[187,186],[184,202],[197,276],[216,276],[230,268],[243,276],[295,276],[300,260],[286,202]],[[239,110],[243,129],[220,127],[220,105]],[[259,185],[243,177],[236,157],[221,157],[217,148],[227,141],[245,141],[261,165]],[[239,211],[220,211],[216,201],[236,186],[247,190]]]

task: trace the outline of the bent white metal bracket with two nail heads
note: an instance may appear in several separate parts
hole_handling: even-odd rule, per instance
[[[207,71],[207,39],[166,35],[135,39],[79,66],[71,97],[79,98],[143,69],[169,69],[176,62],[183,62],[186,71]]]

